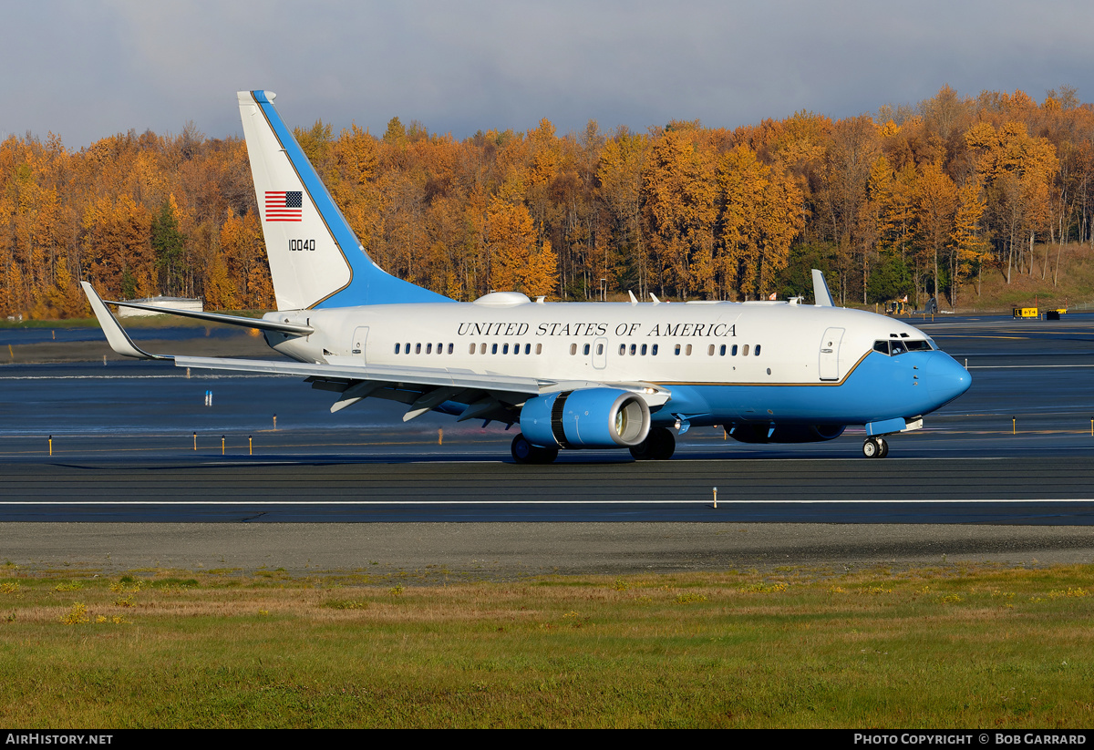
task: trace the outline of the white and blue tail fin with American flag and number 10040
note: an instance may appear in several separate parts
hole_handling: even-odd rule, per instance
[[[238,93],[278,309],[447,302],[372,262],[274,108],[275,96]]]

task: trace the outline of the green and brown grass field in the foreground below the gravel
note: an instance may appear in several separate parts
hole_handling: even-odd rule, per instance
[[[1094,566],[421,585],[9,564],[0,712],[21,728],[1091,727],[1091,591]]]

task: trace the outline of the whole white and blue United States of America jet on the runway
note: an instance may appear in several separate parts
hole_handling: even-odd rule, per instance
[[[274,108],[240,92],[277,312],[260,320],[110,304],[263,330],[291,361],[150,354],[83,282],[114,351],[179,367],[300,375],[335,395],[520,425],[513,458],[629,448],[667,459],[675,435],[721,425],[744,443],[808,443],[863,424],[862,453],[965,392],[968,372],[898,320],[836,307],[821,271],[816,304],[545,303],[491,292],[461,303],[396,279],[369,258]]]

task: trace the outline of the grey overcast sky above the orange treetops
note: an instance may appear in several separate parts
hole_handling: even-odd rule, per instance
[[[0,16],[0,138],[240,134],[235,92],[291,126],[558,132],[733,128],[959,94],[1094,99],[1094,2],[38,0]]]

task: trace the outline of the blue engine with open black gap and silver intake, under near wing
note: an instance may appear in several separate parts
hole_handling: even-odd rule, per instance
[[[528,399],[521,433],[533,445],[563,448],[629,448],[650,432],[650,407],[638,394],[584,388]]]

